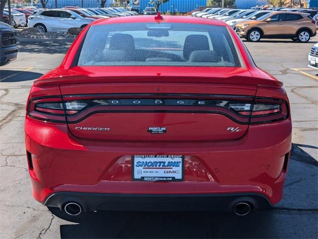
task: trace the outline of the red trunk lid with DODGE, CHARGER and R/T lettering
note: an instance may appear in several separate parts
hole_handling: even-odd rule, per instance
[[[90,71],[85,76],[81,73],[76,84],[74,76],[65,76],[60,84],[65,104],[84,106],[77,112],[66,110],[69,131],[76,137],[226,140],[240,138],[248,130],[250,117],[229,108],[230,104],[254,101],[256,84],[233,84],[243,82],[242,79],[252,82],[247,71],[230,77],[230,72],[226,74],[221,69],[209,78],[202,74],[194,76],[195,72],[183,78],[166,74],[131,76],[131,73],[119,77],[118,71],[116,76],[100,72]]]

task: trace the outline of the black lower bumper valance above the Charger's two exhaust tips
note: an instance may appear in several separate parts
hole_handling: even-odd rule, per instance
[[[151,195],[57,192],[44,202],[45,206],[62,210],[66,202],[80,204],[85,212],[92,211],[231,211],[239,202],[247,202],[254,209],[271,207],[261,194],[202,194]]]

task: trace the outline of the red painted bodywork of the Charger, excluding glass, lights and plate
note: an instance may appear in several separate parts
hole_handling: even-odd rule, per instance
[[[153,16],[119,17],[92,24],[131,21],[156,20]],[[164,16],[163,21],[227,27],[221,21],[193,17]],[[257,193],[271,204],[282,199],[292,137],[288,98],[281,82],[254,65],[231,28],[228,27],[244,67],[72,67],[88,28],[77,37],[62,64],[34,81],[30,91],[25,143],[26,150],[32,154],[29,172],[37,201],[44,203],[52,193],[64,191],[161,195]],[[154,113],[149,112],[153,106],[135,108],[141,111],[138,113],[129,112],[129,107],[113,106],[112,110],[127,112],[94,113],[96,109],[90,108],[78,116],[67,116],[69,122],[79,120],[67,124],[38,119],[46,116],[33,111],[30,103],[34,98],[54,96],[58,101],[67,101],[94,99],[102,94],[113,94],[110,99],[122,98],[116,94],[131,99],[136,96],[129,94],[141,94],[138,99],[149,98],[142,94],[161,94],[160,99],[171,99],[171,95],[185,98],[178,94],[186,94],[187,98],[197,95],[199,99],[210,95],[212,100],[215,97],[227,100],[228,96],[244,96],[251,102],[275,99],[285,102],[282,103],[285,118],[266,122],[271,117],[264,117],[261,123],[259,118],[252,118],[251,123],[244,123],[246,118],[226,109],[215,112],[213,107],[204,108],[211,110],[211,114],[191,113],[202,110],[198,107],[174,114],[169,112],[174,110],[173,106],[160,106],[166,112]],[[65,116],[54,119],[65,120]],[[147,132],[154,125],[169,130],[157,135]],[[108,134],[76,131],[77,126],[111,130]],[[226,130],[228,127],[242,130],[231,133]],[[161,154],[185,156],[183,182],[132,181],[132,155]]]

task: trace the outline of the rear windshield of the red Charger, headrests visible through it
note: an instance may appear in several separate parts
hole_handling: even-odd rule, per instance
[[[91,26],[77,65],[240,67],[240,61],[224,26],[123,23]]]

